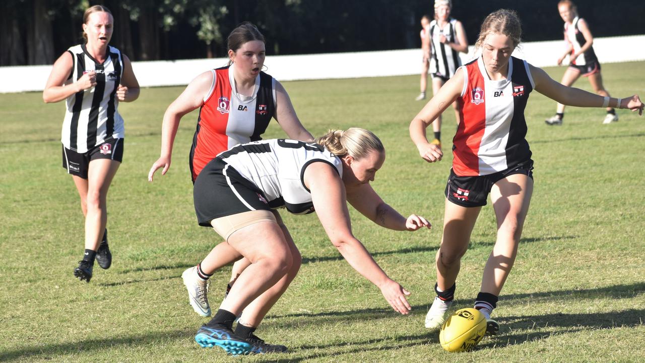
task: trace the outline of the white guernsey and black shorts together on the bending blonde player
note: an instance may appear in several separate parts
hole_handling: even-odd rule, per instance
[[[222,152],[197,176],[194,202],[200,225],[221,216],[285,207],[293,214],[314,211],[304,171],[314,162],[331,165],[342,178],[340,158],[317,143],[272,139]]]

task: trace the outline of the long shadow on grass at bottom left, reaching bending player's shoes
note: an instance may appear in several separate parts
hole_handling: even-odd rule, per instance
[[[195,329],[184,329],[175,331],[154,331],[141,335],[130,335],[128,337],[118,338],[92,338],[77,342],[63,344],[42,344],[34,347],[23,347],[10,349],[0,352],[0,362],[9,362],[11,360],[28,360],[29,358],[41,358],[43,360],[56,360],[61,355],[71,355],[87,351],[104,349],[110,351],[114,347],[124,346],[152,346],[159,340],[178,340],[187,339],[195,334]]]

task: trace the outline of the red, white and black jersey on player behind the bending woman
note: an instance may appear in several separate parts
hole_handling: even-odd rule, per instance
[[[233,65],[217,68],[213,85],[199,109],[197,130],[190,149],[193,181],[208,161],[239,143],[262,140],[261,134],[275,116],[275,79],[264,72],[255,78],[250,99],[237,94]]]

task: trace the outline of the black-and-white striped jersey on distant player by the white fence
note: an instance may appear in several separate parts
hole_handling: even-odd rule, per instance
[[[461,58],[457,50],[439,41],[439,36],[443,35],[449,43],[459,44],[459,40],[455,36],[455,24],[457,24],[457,20],[452,18],[448,19],[448,23],[443,29],[439,28],[436,20],[430,23],[429,36],[430,43],[432,43],[430,72],[440,74],[445,78],[454,76],[457,68],[461,66]]]

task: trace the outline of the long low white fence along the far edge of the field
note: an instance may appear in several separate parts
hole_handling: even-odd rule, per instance
[[[642,45],[645,35],[593,39],[600,63],[643,61]],[[564,47],[563,40],[522,43],[513,56],[537,67],[554,66]],[[461,54],[464,62],[474,56],[473,47],[468,54]],[[133,62],[132,67],[141,87],[173,86],[186,85],[201,72],[223,67],[227,61],[224,58],[142,61]],[[264,64],[268,67],[266,72],[280,81],[404,76],[421,71],[421,50],[269,56]],[[0,93],[41,91],[51,70],[51,65],[0,67]]]

